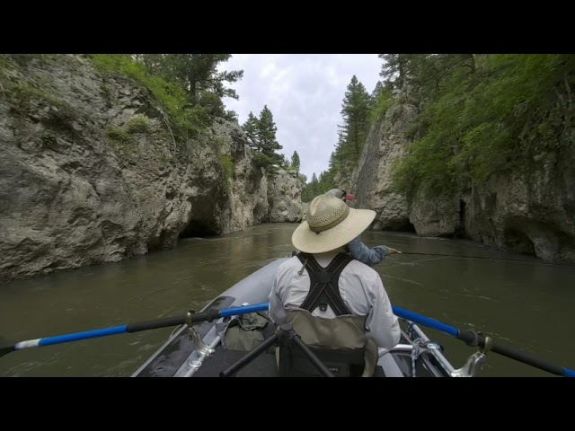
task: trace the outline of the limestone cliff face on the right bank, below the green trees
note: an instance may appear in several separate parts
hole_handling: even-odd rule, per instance
[[[354,207],[377,212],[372,228],[462,236],[549,261],[575,262],[575,110],[564,102],[567,97],[538,113],[537,118],[563,127],[545,142],[524,145],[533,152],[524,169],[481,186],[462,181],[453,194],[420,193],[409,203],[390,191],[390,168],[410,145],[408,130],[419,112],[417,102],[405,95],[402,100],[372,127],[351,182],[358,195]]]

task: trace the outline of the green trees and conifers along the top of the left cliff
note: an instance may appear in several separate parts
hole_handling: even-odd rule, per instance
[[[231,54],[95,54],[90,56],[102,72],[114,72],[135,79],[153,93],[165,108],[165,118],[174,135],[189,138],[205,132],[217,118],[237,120],[226,110],[223,98],[239,100],[229,84],[243,78],[243,70],[218,70]],[[277,127],[267,106],[257,118],[250,113],[243,124],[255,163],[266,173],[279,168],[299,171],[299,156],[291,162],[276,137]]]

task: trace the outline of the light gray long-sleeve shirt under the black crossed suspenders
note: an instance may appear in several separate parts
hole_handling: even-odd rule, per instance
[[[314,254],[321,267],[327,267],[339,251]],[[270,317],[277,324],[286,321],[286,310],[293,310],[304,302],[310,288],[307,269],[302,275],[298,271],[302,262],[296,256],[282,263],[276,273],[270,292]],[[340,275],[341,299],[356,315],[367,315],[367,336],[374,339],[378,347],[391,348],[400,340],[399,321],[394,315],[384,284],[376,270],[352,260],[343,268]],[[325,312],[319,307],[315,316],[334,318],[335,314],[328,305]]]

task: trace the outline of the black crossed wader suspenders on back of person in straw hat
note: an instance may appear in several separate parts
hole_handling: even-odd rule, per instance
[[[319,306],[320,310],[324,312],[329,304],[336,316],[351,314],[343,299],[341,299],[338,282],[341,271],[353,258],[340,253],[330,262],[327,268],[322,268],[311,254],[300,252],[297,254],[297,259],[300,259],[305,265],[311,282],[309,293],[300,308],[313,312]]]

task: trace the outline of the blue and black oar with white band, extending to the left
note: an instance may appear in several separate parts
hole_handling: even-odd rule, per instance
[[[227,308],[225,310],[210,309],[207,312],[189,312],[184,316],[166,317],[155,321],[138,321],[128,325],[113,326],[101,330],[86,330],[84,332],[75,332],[66,335],[57,335],[45,339],[28,339],[15,343],[13,346],[0,347],[0,357],[9,354],[15,350],[24,348],[49,346],[52,344],[67,343],[79,339],[94,339],[96,337],[106,337],[108,335],[123,334],[125,332],[139,332],[140,330],[155,330],[169,326],[178,326],[184,323],[191,324],[196,321],[214,321],[220,317],[234,316],[244,312],[262,312],[267,311],[270,303],[256,303],[243,307]]]

